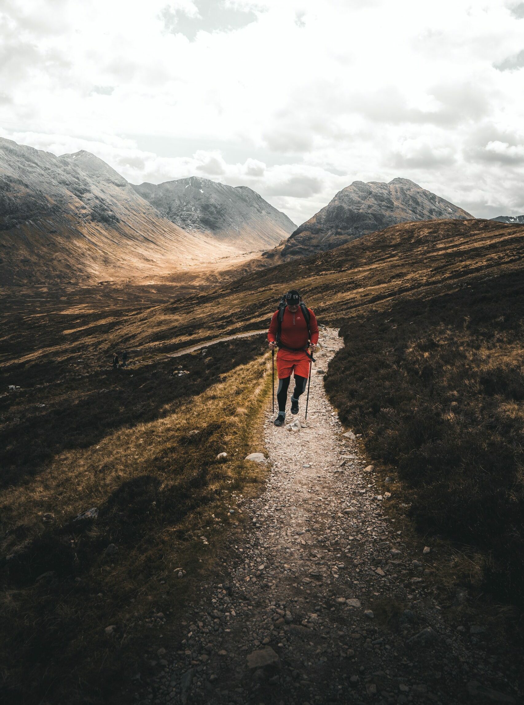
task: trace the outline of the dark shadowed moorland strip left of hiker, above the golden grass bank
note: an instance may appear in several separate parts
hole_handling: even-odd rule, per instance
[[[86,372],[82,365],[69,369],[61,364],[61,384],[56,383],[56,367],[33,365],[25,384],[38,379],[49,386],[23,388],[0,400],[0,486],[27,482],[63,450],[90,448],[118,429],[169,415],[219,381],[219,374],[250,362],[262,349],[257,337],[126,369]],[[189,374],[173,375],[179,367]]]

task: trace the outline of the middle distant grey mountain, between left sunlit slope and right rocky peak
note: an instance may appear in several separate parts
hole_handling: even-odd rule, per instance
[[[296,227],[247,186],[190,176],[133,188],[183,230],[205,233],[240,250],[274,247]]]

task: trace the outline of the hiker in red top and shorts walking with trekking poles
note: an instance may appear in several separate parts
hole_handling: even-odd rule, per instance
[[[317,349],[318,326],[315,314],[302,302],[297,290],[291,289],[282,297],[279,310],[274,312],[267,333],[269,349],[279,348],[276,355],[276,371],[279,388],[276,398],[279,414],[275,426],[282,426],[286,419],[286,402],[291,372],[295,376],[295,389],[291,396],[291,413],[298,414],[298,398],[305,391],[310,372],[310,355]]]

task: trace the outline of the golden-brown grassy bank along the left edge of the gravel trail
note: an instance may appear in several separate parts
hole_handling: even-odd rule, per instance
[[[235,505],[231,493],[263,478],[243,460],[263,450],[258,439],[269,361],[261,352],[256,341],[243,349],[234,342],[214,346],[208,364],[214,360],[226,372],[214,384],[205,374],[200,384],[195,379],[195,390],[205,391],[185,388],[158,405],[153,418],[106,429],[90,443],[62,443],[57,453],[51,448],[38,460],[39,472],[5,487],[0,661],[6,701],[106,702],[124,674],[147,668],[141,654],[158,639],[150,627],[159,622],[154,615],[170,612],[173,619],[183,611],[188,586],[236,521],[228,513]],[[231,367],[226,362],[236,353],[245,363]],[[195,353],[176,362],[196,371],[201,358]],[[141,367],[111,370],[115,384],[126,374],[140,376]],[[143,367],[152,376],[151,364]],[[159,378],[162,372],[160,364]],[[157,389],[166,383],[162,375]],[[136,415],[140,400],[133,403]],[[223,450],[226,462],[217,460]],[[90,507],[99,509],[96,520],[75,521]],[[118,551],[106,553],[109,544]],[[178,568],[188,574],[182,580]],[[109,625],[116,625],[111,635]]]

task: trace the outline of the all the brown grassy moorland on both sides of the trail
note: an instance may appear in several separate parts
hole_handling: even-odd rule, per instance
[[[523,262],[521,226],[402,223],[147,310],[1,312],[4,699],[106,703],[147,677],[191,591],[181,556],[205,582],[234,494],[264,477],[243,458],[270,395],[264,336],[169,354],[263,329],[291,286],[341,328],[326,389],[398,511],[522,604]]]

